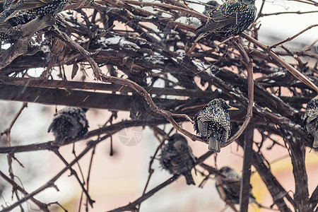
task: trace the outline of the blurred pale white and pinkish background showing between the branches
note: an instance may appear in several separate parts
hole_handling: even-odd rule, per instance
[[[222,4],[221,1],[218,1]],[[256,6],[259,9],[261,1],[256,1]],[[301,5],[301,7],[300,7]],[[194,10],[203,12],[204,6],[198,4],[189,4]],[[145,7],[144,9],[147,9]],[[151,8],[148,8],[151,9]],[[309,4],[300,4],[297,1],[266,1],[264,5],[264,13],[289,12],[289,11],[317,11],[317,6]],[[259,25],[259,40],[265,45],[273,45],[276,42],[285,40],[296,33],[304,30],[310,25],[317,24],[318,13],[307,13],[299,16],[298,14],[280,14],[277,16],[265,16],[261,18]],[[182,21],[182,20],[180,20]],[[199,25],[199,21],[195,20],[194,24]],[[114,23],[120,27],[119,23]],[[312,28],[307,32],[302,33],[292,42],[288,42],[286,46],[291,49],[298,49],[305,47],[305,45],[315,42],[318,39],[318,28]],[[318,52],[317,45],[314,45],[314,52]],[[310,61],[314,62],[314,61]],[[71,68],[70,68],[71,69]],[[34,76],[39,76],[41,71],[34,70]],[[32,72],[31,72],[32,73]],[[67,72],[71,75],[71,71]],[[29,72],[30,74],[30,72]],[[67,76],[71,77],[71,76]],[[88,81],[90,78],[86,78]],[[79,80],[79,79],[78,79]],[[91,79],[93,81],[93,78]],[[156,84],[160,87],[160,83]],[[285,95],[289,95],[285,93]],[[16,112],[20,109],[22,102],[8,102],[0,101],[0,131],[4,131],[11,123]],[[16,124],[11,130],[12,146],[27,145],[31,143],[43,143],[52,141],[54,136],[47,133],[47,128],[52,121],[55,110],[60,110],[62,105],[49,106],[35,103],[28,103],[28,107],[23,110]],[[109,119],[111,113],[106,110],[90,109],[86,113],[90,130],[97,129],[105,124]],[[129,112],[119,112],[116,121],[122,119],[129,119]],[[182,125],[188,131],[193,132],[193,126],[189,122],[184,122]],[[170,131],[171,125],[161,126],[166,132]],[[134,143],[129,139],[134,138]],[[260,135],[255,132],[255,141],[260,141]],[[135,199],[138,199],[145,187],[148,178],[149,160],[155,153],[159,141],[155,138],[153,131],[148,127],[134,127],[124,129],[118,134],[112,136],[114,155],[110,156],[110,139],[98,144],[95,149],[95,156],[93,158],[93,165],[90,175],[90,196],[96,202],[90,211],[109,211],[119,206],[124,206]],[[278,143],[285,146],[282,138],[275,138]],[[0,138],[1,146],[6,145],[6,138]],[[206,153],[207,145],[201,142],[189,141],[194,155],[199,157]],[[266,144],[266,143],[265,143]],[[86,141],[76,142],[76,152],[79,153],[86,147]],[[73,145],[69,144],[60,148],[61,154],[70,161],[74,158],[72,153]],[[273,175],[283,185],[286,191],[293,194],[295,190],[295,182],[293,178],[293,170],[290,158],[286,148],[281,146],[274,146],[269,151],[263,151],[264,156],[271,164]],[[29,153],[16,153],[16,158],[23,163],[24,167],[13,162],[13,170],[17,177],[17,182],[21,182],[26,191],[33,190],[45,184],[50,177],[59,172],[64,164],[61,163],[54,153],[47,151],[35,151]],[[2,172],[7,172],[8,165],[6,163],[6,155],[0,155],[0,169]],[[158,158],[158,156],[157,156]],[[218,153],[217,160],[214,157],[206,160],[208,165],[213,167],[230,166],[242,171],[242,148],[232,143],[226,148],[222,148]],[[306,153],[306,168],[309,182],[309,193],[312,194],[318,184],[318,155],[317,152],[307,149]],[[86,176],[90,163],[90,154],[86,155],[79,161],[81,165],[81,172]],[[154,160],[153,169],[155,170],[153,177],[151,177],[150,184],[147,191],[153,187],[158,186],[171,175],[162,170],[159,161]],[[73,166],[78,173],[78,165]],[[199,169],[199,168],[198,168]],[[252,167],[254,171],[254,167]],[[27,174],[26,174],[27,173]],[[69,172],[66,172],[69,174]],[[203,188],[198,188],[198,185],[204,179],[199,173],[194,175],[196,186],[187,186],[184,177],[180,177],[176,182],[163,188],[151,198],[147,199],[141,204],[140,211],[232,211],[231,208],[225,208],[225,202],[220,199],[216,192],[215,180],[212,178],[204,185]],[[266,186],[261,181],[257,172],[252,175],[252,193],[259,203],[265,206],[273,204],[271,196],[266,189]],[[78,185],[73,176],[63,175],[56,182],[59,191],[54,188],[46,189],[35,196],[40,201],[45,203],[58,201],[68,211],[78,211],[78,205],[81,199],[81,187]],[[0,178],[0,205],[7,206],[14,201],[11,200],[11,186]],[[82,203],[83,204],[83,203]],[[36,211],[37,208],[32,203],[23,204],[27,211]],[[237,206],[238,208],[238,206]],[[275,208],[275,206],[274,206]],[[50,207],[52,211],[62,211],[58,206]],[[16,208],[20,211],[20,208]],[[85,211],[85,207],[81,207],[81,211]],[[256,205],[250,205],[249,211],[271,211],[265,208],[258,208]]]

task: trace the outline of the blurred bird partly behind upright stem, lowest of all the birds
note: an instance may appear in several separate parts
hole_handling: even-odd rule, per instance
[[[226,199],[228,199],[228,201],[230,201],[232,204],[240,204],[241,175],[228,166],[222,167],[219,171],[222,175],[227,177],[227,179],[217,177],[216,190],[218,191],[218,194],[220,194],[222,198],[220,192],[220,186],[222,184]],[[249,185],[249,187],[252,190],[252,186]],[[249,194],[249,202],[254,202],[258,206],[261,206],[259,203],[257,203],[252,193]]]

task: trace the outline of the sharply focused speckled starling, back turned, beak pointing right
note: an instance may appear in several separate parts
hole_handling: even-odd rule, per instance
[[[196,134],[201,134],[202,139],[208,141],[209,151],[219,153],[220,145],[228,141],[230,136],[229,110],[238,109],[231,107],[223,99],[214,99],[194,116],[194,130]]]

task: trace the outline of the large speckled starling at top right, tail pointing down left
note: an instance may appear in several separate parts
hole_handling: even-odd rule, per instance
[[[208,13],[206,23],[196,29],[197,42],[208,35],[229,37],[239,35],[254,22],[257,13],[255,0],[228,0]]]

